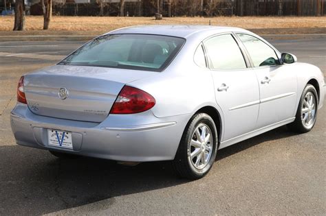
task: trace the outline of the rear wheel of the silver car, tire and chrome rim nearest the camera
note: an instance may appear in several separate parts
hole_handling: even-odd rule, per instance
[[[206,113],[194,115],[182,135],[173,167],[182,178],[197,180],[206,176],[217,154],[217,129]]]

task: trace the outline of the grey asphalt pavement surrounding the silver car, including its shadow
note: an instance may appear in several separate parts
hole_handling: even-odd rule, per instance
[[[271,40],[326,76],[326,39]],[[219,150],[208,176],[177,178],[169,162],[135,167],[60,160],[14,143],[9,114],[23,73],[81,41],[0,42],[0,215],[325,215],[326,108],[312,132],[286,127]]]

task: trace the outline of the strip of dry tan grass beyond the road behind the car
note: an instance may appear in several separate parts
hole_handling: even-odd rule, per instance
[[[91,31],[109,32],[112,29],[131,25],[212,25],[235,26],[246,29],[270,29],[270,28],[325,28],[326,17],[173,17],[155,21],[152,17],[99,17],[99,16],[53,16],[50,29],[52,31]],[[14,26],[13,16],[0,17],[0,31],[10,31]],[[42,16],[27,16],[26,30],[41,30],[43,27]]]

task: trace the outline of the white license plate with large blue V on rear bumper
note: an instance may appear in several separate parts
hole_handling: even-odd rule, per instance
[[[72,132],[47,130],[49,145],[72,149]]]

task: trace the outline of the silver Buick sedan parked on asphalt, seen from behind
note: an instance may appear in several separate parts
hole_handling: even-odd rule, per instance
[[[309,132],[323,106],[320,69],[235,27],[127,27],[19,80],[19,145],[58,157],[172,160],[198,179],[218,149],[288,125]]]

